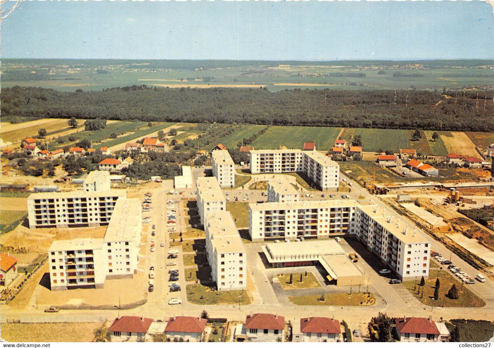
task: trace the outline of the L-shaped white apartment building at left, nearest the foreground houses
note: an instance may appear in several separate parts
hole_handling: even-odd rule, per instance
[[[106,278],[132,277],[141,221],[140,201],[120,198],[104,238],[54,241],[48,249],[51,290],[103,288]]]

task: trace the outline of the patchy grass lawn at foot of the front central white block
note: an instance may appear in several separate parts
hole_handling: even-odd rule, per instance
[[[250,304],[247,291],[214,291],[201,284],[187,285],[187,300],[196,305]],[[240,300],[239,300],[240,296]]]

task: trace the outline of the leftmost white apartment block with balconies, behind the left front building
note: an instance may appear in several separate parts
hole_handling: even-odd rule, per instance
[[[27,199],[29,228],[106,225],[121,197],[125,191],[33,193]]]

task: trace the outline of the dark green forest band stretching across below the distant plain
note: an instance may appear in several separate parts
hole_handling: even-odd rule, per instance
[[[10,122],[22,118],[75,117],[147,122],[493,131],[493,93],[475,92],[475,96],[479,93],[479,99],[488,101],[488,108],[484,110],[476,107],[472,93],[463,98],[462,92],[457,93],[458,98],[446,98],[441,93],[413,90],[295,88],[272,93],[263,88],[191,89],[140,85],[89,92],[12,87],[3,89],[0,98],[2,120]]]

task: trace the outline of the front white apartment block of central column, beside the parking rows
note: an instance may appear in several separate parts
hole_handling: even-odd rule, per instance
[[[229,211],[209,215],[206,252],[211,277],[219,291],[247,288],[247,253]]]

